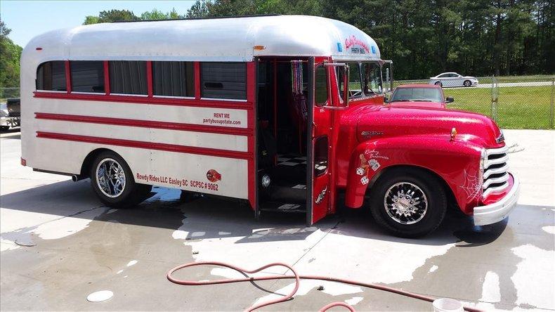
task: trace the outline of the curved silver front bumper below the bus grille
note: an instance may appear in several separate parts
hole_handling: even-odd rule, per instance
[[[499,222],[507,218],[514,207],[516,207],[521,184],[516,176],[512,174],[511,176],[513,177],[513,186],[505,197],[499,202],[474,208],[474,225],[485,226],[486,224]]]

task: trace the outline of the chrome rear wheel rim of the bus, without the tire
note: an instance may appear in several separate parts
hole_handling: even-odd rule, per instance
[[[107,197],[118,197],[125,190],[125,171],[119,162],[105,158],[96,166],[96,184]]]

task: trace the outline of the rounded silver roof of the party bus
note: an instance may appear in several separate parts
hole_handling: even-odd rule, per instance
[[[380,59],[376,41],[353,25],[316,16],[275,15],[110,22],[54,30],[34,37],[21,62],[30,61],[36,68],[47,60],[250,61],[256,56]]]

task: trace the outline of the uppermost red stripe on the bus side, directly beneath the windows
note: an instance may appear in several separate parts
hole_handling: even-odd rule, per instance
[[[34,91],[35,98],[58,98],[60,100],[98,100],[114,103],[174,105],[201,108],[232,108],[235,110],[252,110],[252,102],[223,101],[223,100],[196,100],[183,98],[149,98],[148,96],[115,96],[113,94],[79,94],[79,93],[51,93]]]

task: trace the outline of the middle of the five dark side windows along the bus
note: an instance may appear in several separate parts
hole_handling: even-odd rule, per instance
[[[148,94],[144,60],[110,61],[110,93]]]

